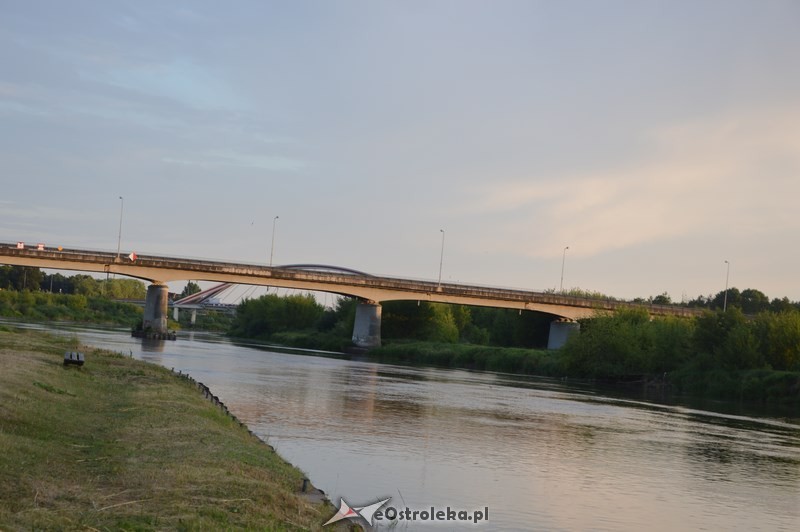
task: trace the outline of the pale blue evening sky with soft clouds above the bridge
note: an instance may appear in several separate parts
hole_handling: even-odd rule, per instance
[[[0,241],[797,301],[798,27],[795,0],[0,0]]]

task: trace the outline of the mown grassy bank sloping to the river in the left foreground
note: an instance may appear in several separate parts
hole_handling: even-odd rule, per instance
[[[321,529],[302,473],[164,368],[0,326],[0,529]]]

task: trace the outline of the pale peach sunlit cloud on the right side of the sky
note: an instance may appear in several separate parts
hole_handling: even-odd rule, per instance
[[[638,244],[703,234],[757,235],[800,229],[800,109],[762,109],[664,127],[647,134],[639,162],[553,180],[541,176],[473,190],[467,207],[510,216],[518,247],[540,228],[532,253],[569,245],[592,256]]]

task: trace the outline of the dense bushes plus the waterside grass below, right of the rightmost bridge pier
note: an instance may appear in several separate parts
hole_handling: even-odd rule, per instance
[[[800,312],[707,312],[650,320],[619,312],[582,323],[562,349],[569,375],[625,381],[666,376],[679,393],[800,402]]]

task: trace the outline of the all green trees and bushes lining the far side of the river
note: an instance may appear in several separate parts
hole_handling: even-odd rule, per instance
[[[140,290],[144,297],[139,281],[103,281],[85,275],[63,278],[35,268],[3,267],[0,286],[3,283],[12,288],[49,283],[74,295],[0,291],[0,316],[124,324],[141,316],[140,309],[99,295]],[[181,297],[199,290],[190,282]],[[581,289],[566,295],[613,299]],[[673,304],[667,293],[635,301]],[[308,294],[271,294],[243,301],[235,317],[198,313],[193,327],[288,347],[341,351],[351,345],[356,305],[356,299],[340,298],[335,308],[326,309]],[[610,382],[660,378],[663,383],[668,375],[669,383],[680,392],[760,400],[796,398],[800,303],[788,298],[770,300],[752,288],[730,288],[681,305],[709,312],[693,320],[651,320],[645,310],[598,316],[583,320],[581,333],[561,352],[548,353],[542,351],[552,321],[548,315],[389,301],[382,305],[384,347],[370,356],[400,363]],[[721,311],[723,306],[727,312]],[[189,320],[190,313],[183,312],[180,325],[171,327],[191,327]]]

